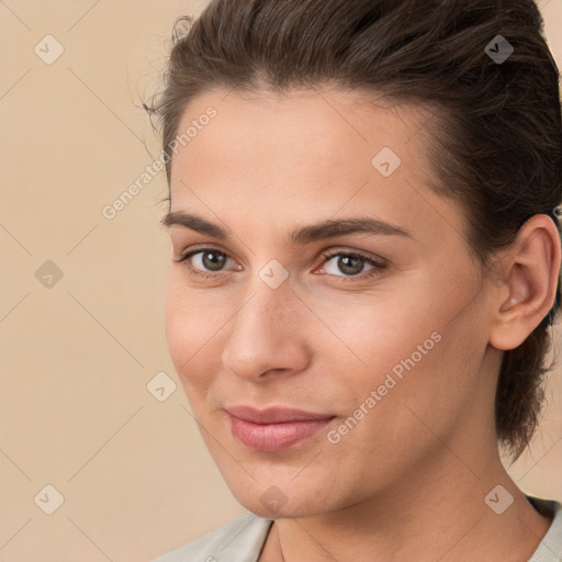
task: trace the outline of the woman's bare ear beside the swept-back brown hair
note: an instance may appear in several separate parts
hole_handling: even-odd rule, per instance
[[[561,244],[548,215],[529,218],[501,260],[503,283],[494,291],[490,344],[509,350],[520,346],[554,303]]]

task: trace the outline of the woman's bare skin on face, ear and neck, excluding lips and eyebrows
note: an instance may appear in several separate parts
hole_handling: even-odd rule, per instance
[[[166,328],[226,483],[246,508],[276,519],[260,560],[528,560],[550,520],[501,464],[493,404],[502,350],[519,345],[553,302],[552,221],[526,223],[502,252],[503,281],[490,283],[467,247],[463,210],[427,187],[423,108],[373,106],[329,89],[217,91],[188,105],[180,131],[210,105],[216,117],[173,157],[171,211],[228,236],[169,226]],[[371,164],[383,147],[402,160],[389,177]],[[350,217],[411,236],[290,239],[295,228]],[[224,269],[205,270],[201,254],[177,261],[201,248],[226,254]],[[366,261],[346,276],[326,250],[384,267]],[[289,273],[277,289],[259,274],[273,259]],[[439,341],[330,442],[328,430],[432,334]],[[232,435],[224,408],[233,405],[336,418],[289,449],[252,451]],[[497,485],[514,497],[501,516],[484,502]],[[274,509],[262,501],[271,494],[281,499]]]

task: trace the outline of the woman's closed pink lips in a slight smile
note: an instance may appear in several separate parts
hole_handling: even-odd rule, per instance
[[[280,451],[313,436],[336,416],[313,414],[301,409],[249,406],[226,408],[234,437],[248,449]]]

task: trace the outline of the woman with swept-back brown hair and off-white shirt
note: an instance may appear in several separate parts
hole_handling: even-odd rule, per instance
[[[531,0],[213,0],[161,119],[167,336],[250,514],[159,562],[558,561],[528,445],[558,308]]]

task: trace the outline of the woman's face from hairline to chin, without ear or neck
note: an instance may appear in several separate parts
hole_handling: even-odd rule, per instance
[[[169,348],[263,517],[406,494],[451,459],[470,474],[451,443],[493,441],[501,357],[467,220],[427,187],[430,114],[364,100],[205,93],[179,127]]]

